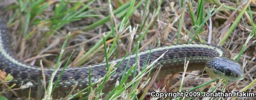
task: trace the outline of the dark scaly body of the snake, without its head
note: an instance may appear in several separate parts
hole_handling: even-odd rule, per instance
[[[1,18],[0,18],[1,19]],[[2,48],[8,53],[7,55],[10,55],[15,59],[15,61],[19,61],[15,54],[11,51],[11,46],[9,45],[11,43],[10,36],[8,34],[8,30],[6,30],[5,25],[3,24],[3,21],[0,20],[0,44],[2,44]],[[202,45],[202,44],[200,44]],[[163,47],[162,50],[158,49],[152,49],[151,54],[149,57],[149,61],[147,60],[148,53],[140,54],[139,56],[139,65],[140,70],[142,70],[143,64],[148,64],[148,62],[152,62],[156,60],[158,57],[160,57],[166,50],[166,54],[162,59],[158,61],[158,64],[162,64],[164,66],[165,74],[171,74],[173,72],[177,72],[178,69],[181,69],[181,67],[176,67],[177,65],[182,65],[184,63],[184,58],[190,59],[192,62],[199,62],[205,63],[209,58],[218,57],[219,54],[215,50],[216,48],[222,50],[224,52],[223,57],[230,57],[230,54],[228,51],[225,51],[219,46],[215,45],[208,45],[204,44],[202,46],[211,46],[215,49],[210,49],[207,47],[194,47],[194,46],[184,46],[183,44],[177,45],[178,48],[169,48],[165,49],[168,46]],[[150,52],[148,50],[148,52]],[[27,82],[32,82],[33,87],[32,90],[36,90],[38,86],[38,78],[41,76],[41,69],[38,69],[40,67],[35,66],[29,66],[28,64],[25,64],[23,61],[19,61],[19,63],[24,64],[25,66],[15,64],[14,61],[10,61],[10,59],[7,59],[6,54],[3,54],[3,51],[0,51],[0,70],[6,71],[7,73],[10,73],[14,77],[14,83],[17,84],[17,86],[20,86],[22,83],[25,84]],[[129,56],[127,57],[129,58]],[[199,59],[204,58],[204,59]],[[119,61],[112,61],[113,63],[116,62],[116,65],[120,62]],[[134,64],[135,57],[131,57],[129,59],[125,59],[122,64],[120,64],[120,67],[117,68],[117,71],[115,74],[111,76],[109,79],[109,86],[113,86],[114,82],[116,82],[117,79],[120,79],[120,76],[122,75],[125,66],[127,65],[128,69]],[[150,63],[149,63],[150,64]],[[209,63],[211,64],[211,63]],[[26,67],[28,66],[28,67]],[[98,81],[99,78],[102,78],[106,74],[106,67],[104,63],[101,64],[94,64],[92,66],[92,82]],[[204,65],[200,65],[199,68],[203,68]],[[183,67],[182,67],[183,68]],[[127,70],[128,70],[127,69]],[[194,68],[197,69],[197,68]],[[193,69],[193,70],[194,70]],[[53,73],[53,70],[50,69],[44,69],[46,80],[49,81],[51,74]],[[59,73],[61,72],[61,69],[57,72],[57,75],[55,76],[55,80],[59,76]],[[88,86],[88,66],[81,66],[79,68],[68,68],[65,70],[64,75],[62,76],[60,83],[58,84],[56,88],[56,92],[53,94],[54,98],[57,96],[66,96],[67,93],[69,93],[69,90],[72,89],[73,85],[77,82],[78,86],[77,89],[84,89]],[[110,89],[110,88],[108,88]],[[26,92],[28,89],[22,90],[22,93],[28,93]],[[25,92],[24,92],[25,91]],[[33,96],[33,95],[32,95]]]

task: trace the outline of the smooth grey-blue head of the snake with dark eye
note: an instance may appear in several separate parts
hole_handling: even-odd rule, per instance
[[[206,71],[212,79],[240,81],[245,77],[241,65],[226,57],[215,57],[207,61]]]

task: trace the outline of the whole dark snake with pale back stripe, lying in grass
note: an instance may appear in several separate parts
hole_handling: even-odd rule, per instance
[[[28,82],[32,83],[31,96],[33,95],[32,93],[35,95],[37,86],[39,86],[38,78],[42,74],[42,69],[41,67],[30,65],[19,60],[13,50],[11,40],[11,35],[5,21],[0,18],[0,70],[13,76],[11,83],[15,83],[16,86],[21,86]],[[158,59],[162,54],[164,55]],[[205,69],[212,79],[222,78],[231,81],[240,81],[245,77],[241,65],[231,58],[228,50],[214,44],[187,43],[157,47],[109,61],[109,65],[115,63],[114,67],[117,67],[117,64],[119,67],[116,68],[113,75],[109,77],[106,85],[114,86],[123,74],[127,74],[127,71],[132,65],[143,66],[153,61],[156,61],[155,68],[158,68],[157,65],[162,67],[159,72],[162,75],[184,71],[184,61],[189,61],[187,71]],[[92,83],[97,82],[106,75],[106,65],[105,62],[90,65],[90,79]],[[75,68],[66,68],[60,78],[60,82],[56,86],[55,92],[53,92],[53,97],[58,98],[66,96],[75,84],[77,84],[76,89],[80,90],[88,87],[88,66],[89,65],[82,65]],[[132,73],[136,72],[136,74],[138,74],[139,69],[142,70],[142,68],[143,67],[140,67],[132,71]],[[54,80],[60,76],[62,70],[62,68],[57,70]],[[53,68],[44,68],[47,84],[53,71]],[[130,76],[132,76],[132,74]],[[132,77],[128,77],[128,79],[132,79]],[[106,87],[108,88],[108,86]],[[22,89],[21,95],[27,96],[27,91],[28,89]]]

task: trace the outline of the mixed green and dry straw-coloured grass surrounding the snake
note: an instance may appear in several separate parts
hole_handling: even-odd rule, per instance
[[[42,65],[55,66],[55,69],[60,66],[67,68],[106,63],[107,75],[92,83],[89,68],[89,86],[65,99],[142,100],[147,99],[148,93],[158,89],[161,92],[256,91],[252,87],[256,75],[253,70],[256,48],[252,42],[256,39],[255,33],[253,35],[256,9],[252,0],[18,0],[9,4],[5,11],[19,59],[38,66],[38,59],[42,59]],[[69,41],[66,38],[70,38]],[[197,76],[203,74],[201,71],[191,72],[196,76],[186,73],[168,75],[162,80],[156,76],[143,79],[147,73],[152,73],[150,71],[156,61],[144,62],[144,66],[139,66],[139,52],[177,43],[211,43],[223,46],[236,61],[244,63],[245,79],[240,82],[210,80],[205,75]],[[62,44],[66,46],[65,52]],[[122,74],[112,91],[102,92],[106,82],[122,64],[122,61],[118,64],[109,64],[109,61],[119,57],[129,58],[130,54],[137,54],[136,63],[129,66],[129,69],[125,68],[127,74]],[[56,55],[59,57],[55,57]],[[61,65],[63,62],[67,63]],[[138,68],[143,70],[138,74],[132,73]],[[128,80],[130,74],[132,80]],[[217,85],[213,85],[214,82]],[[0,85],[4,86],[4,82],[0,82]],[[50,86],[53,87],[47,88],[45,99],[51,99],[56,87],[55,84]],[[0,90],[0,97],[10,98],[2,96],[6,91]],[[217,97],[218,100],[230,98]]]

